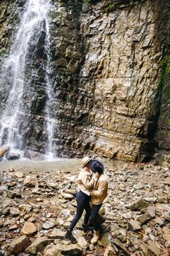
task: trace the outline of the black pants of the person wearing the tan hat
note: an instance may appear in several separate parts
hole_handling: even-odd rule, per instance
[[[72,231],[74,229],[75,225],[77,225],[77,222],[82,217],[82,213],[84,210],[86,211],[85,219],[84,219],[85,225],[88,224],[88,219],[89,219],[90,213],[91,213],[91,208],[90,208],[90,203],[89,203],[90,196],[85,195],[85,193],[80,191],[80,192],[77,192],[76,200],[77,200],[77,211],[76,211],[76,215],[75,215],[74,219],[72,220],[71,225],[69,226],[70,231]]]

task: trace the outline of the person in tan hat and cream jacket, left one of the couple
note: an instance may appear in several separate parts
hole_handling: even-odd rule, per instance
[[[72,230],[74,229],[75,225],[77,225],[77,222],[82,217],[82,213],[85,210],[85,219],[84,219],[84,225],[83,230],[87,230],[88,228],[88,219],[90,217],[91,208],[90,208],[90,192],[93,188],[94,183],[97,180],[98,173],[94,174],[90,170],[90,161],[92,158],[84,157],[82,159],[82,170],[79,173],[79,176],[77,178],[78,183],[78,192],[76,195],[77,200],[77,211],[74,219],[71,222],[71,225],[69,226],[69,230],[66,231],[66,238],[69,238],[72,243],[76,242],[76,239],[72,235]]]

